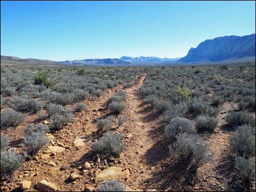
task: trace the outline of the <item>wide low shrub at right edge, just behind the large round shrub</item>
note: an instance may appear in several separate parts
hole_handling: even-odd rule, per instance
[[[251,114],[246,114],[244,112],[230,112],[226,120],[231,128],[235,128],[241,125],[252,125],[255,126],[255,118]]]

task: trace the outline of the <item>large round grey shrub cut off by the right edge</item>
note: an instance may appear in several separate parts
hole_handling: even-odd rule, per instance
[[[231,149],[241,157],[252,157],[255,155],[255,128],[243,125],[236,128],[231,135]]]

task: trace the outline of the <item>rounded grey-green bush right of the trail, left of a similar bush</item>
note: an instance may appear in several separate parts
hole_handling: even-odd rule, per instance
[[[169,125],[164,128],[164,135],[169,143],[174,143],[174,141],[176,141],[176,136],[185,132],[187,134],[192,134],[194,133],[194,129],[192,121],[182,117],[175,117],[170,121]]]

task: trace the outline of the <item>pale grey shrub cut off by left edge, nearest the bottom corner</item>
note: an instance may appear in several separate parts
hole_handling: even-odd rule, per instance
[[[25,157],[9,149],[5,152],[1,151],[1,177],[13,177],[14,171],[19,168]]]

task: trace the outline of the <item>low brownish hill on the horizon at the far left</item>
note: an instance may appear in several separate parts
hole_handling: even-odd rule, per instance
[[[57,61],[41,60],[41,59],[21,59],[19,57],[3,56],[1,55],[1,65],[64,65]]]

